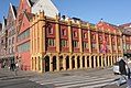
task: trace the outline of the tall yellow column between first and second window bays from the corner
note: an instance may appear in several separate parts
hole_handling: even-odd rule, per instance
[[[56,15],[56,24],[55,24],[55,29],[56,29],[56,51],[57,53],[59,53],[59,24],[58,24],[58,15]]]

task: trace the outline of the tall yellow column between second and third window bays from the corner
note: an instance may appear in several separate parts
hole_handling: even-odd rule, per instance
[[[72,22],[70,19],[68,19],[68,46],[69,46],[69,53],[73,53],[73,40],[72,40]]]

